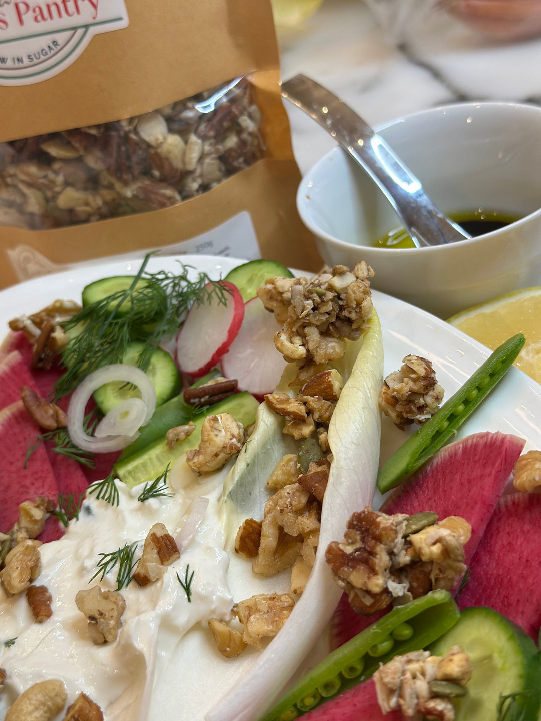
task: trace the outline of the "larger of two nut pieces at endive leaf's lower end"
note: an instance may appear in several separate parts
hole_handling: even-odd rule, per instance
[[[260,593],[234,606],[234,614],[244,626],[245,643],[263,648],[263,638],[273,638],[289,618],[295,601],[289,593]]]

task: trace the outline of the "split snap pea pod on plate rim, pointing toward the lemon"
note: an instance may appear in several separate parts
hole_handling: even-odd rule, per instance
[[[409,478],[457,433],[459,426],[509,371],[524,342],[524,335],[519,333],[496,348],[454,396],[410,435],[379,471],[377,487],[380,492],[384,493]]]

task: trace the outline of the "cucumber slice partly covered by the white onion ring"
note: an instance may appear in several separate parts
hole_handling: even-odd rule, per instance
[[[122,362],[127,363],[128,366],[136,366],[144,347],[144,343],[141,342],[130,343]],[[161,348],[154,350],[146,373],[156,389],[157,406],[179,392],[181,386],[180,371],[175,361],[165,350]],[[94,392],[94,400],[103,413],[108,413],[115,405],[131,397],[140,398],[141,391],[122,381],[106,383]]]

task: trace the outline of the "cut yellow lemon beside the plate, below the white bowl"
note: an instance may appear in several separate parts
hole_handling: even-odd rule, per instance
[[[515,366],[541,383],[541,288],[524,288],[468,308],[447,321],[491,350],[522,333],[526,345]]]

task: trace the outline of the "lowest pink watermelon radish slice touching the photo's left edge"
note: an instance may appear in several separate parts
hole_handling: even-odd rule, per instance
[[[28,439],[39,433],[22,401],[0,411],[0,443],[6,449],[0,464],[0,531],[9,531],[19,520],[19,503],[23,500],[43,495],[56,501],[58,485],[45,448],[40,446],[26,468],[22,467]]]

